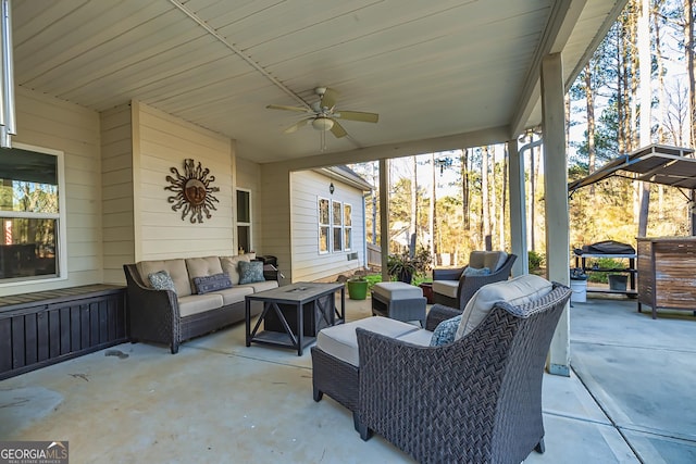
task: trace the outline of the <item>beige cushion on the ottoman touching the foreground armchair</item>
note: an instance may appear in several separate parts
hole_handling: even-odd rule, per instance
[[[358,336],[356,335],[356,328],[358,327],[391,338],[420,330],[414,325],[388,317],[366,317],[364,319],[322,329],[316,336],[316,347],[326,354],[331,354],[346,363],[358,366]],[[427,342],[430,343],[430,338]]]

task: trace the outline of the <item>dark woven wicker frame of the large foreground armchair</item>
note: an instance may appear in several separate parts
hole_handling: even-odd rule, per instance
[[[520,463],[543,452],[542,377],[570,294],[555,284],[526,305],[496,303],[471,334],[442,347],[358,328],[361,438],[374,431],[432,463]]]

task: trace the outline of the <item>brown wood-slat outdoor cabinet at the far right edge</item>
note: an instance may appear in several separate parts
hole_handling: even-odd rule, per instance
[[[696,237],[638,237],[638,311],[696,311]]]

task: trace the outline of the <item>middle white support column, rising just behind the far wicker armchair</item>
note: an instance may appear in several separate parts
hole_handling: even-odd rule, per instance
[[[524,189],[524,158],[520,155],[517,140],[508,140],[510,179],[510,238],[512,253],[518,259],[512,265],[512,276],[530,273],[530,261],[526,259],[526,208]]]

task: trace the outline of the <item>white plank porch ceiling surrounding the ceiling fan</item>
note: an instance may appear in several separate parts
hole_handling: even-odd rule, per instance
[[[502,141],[540,123],[540,58],[562,52],[572,81],[625,2],[14,0],[15,80],[95,111],[139,100],[259,163],[320,153],[311,126],[283,134],[299,113],[265,109],[316,86],[381,116],[346,122],[322,155]]]

